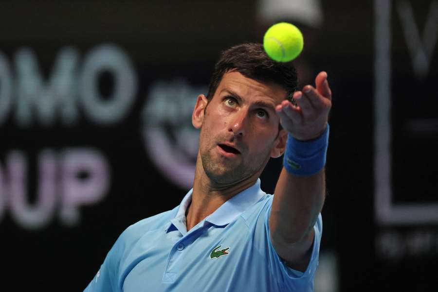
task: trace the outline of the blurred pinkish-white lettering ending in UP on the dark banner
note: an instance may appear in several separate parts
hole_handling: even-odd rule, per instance
[[[37,200],[29,204],[26,156],[17,150],[6,155],[6,176],[0,167],[0,216],[9,205],[12,218],[27,229],[49,224],[57,205],[61,222],[75,225],[79,206],[101,201],[109,190],[109,163],[91,148],[67,149],[57,155],[45,149],[38,156],[38,168]]]

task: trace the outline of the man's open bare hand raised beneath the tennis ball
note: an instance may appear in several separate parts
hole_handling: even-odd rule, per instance
[[[315,78],[316,88],[310,85],[293,93],[297,106],[284,100],[275,107],[283,128],[292,137],[306,141],[319,137],[327,127],[331,108],[331,90],[327,72],[319,72]]]

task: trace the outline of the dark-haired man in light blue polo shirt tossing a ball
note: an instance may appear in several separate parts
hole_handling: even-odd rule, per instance
[[[312,291],[331,107],[327,73],[315,83],[294,92],[295,70],[260,44],[223,52],[193,110],[193,189],[129,226],[85,291]],[[266,194],[258,177],[285,151]]]

